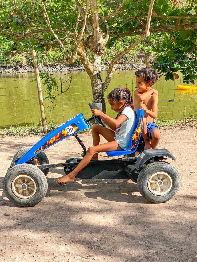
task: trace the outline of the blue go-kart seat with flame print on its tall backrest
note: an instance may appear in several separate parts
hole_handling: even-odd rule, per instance
[[[143,119],[144,119],[144,110],[139,110],[138,107],[135,115],[135,131],[133,132],[131,139],[129,141],[128,149],[108,151],[106,152],[108,156],[122,156],[122,155],[132,154],[137,150],[142,133]]]

